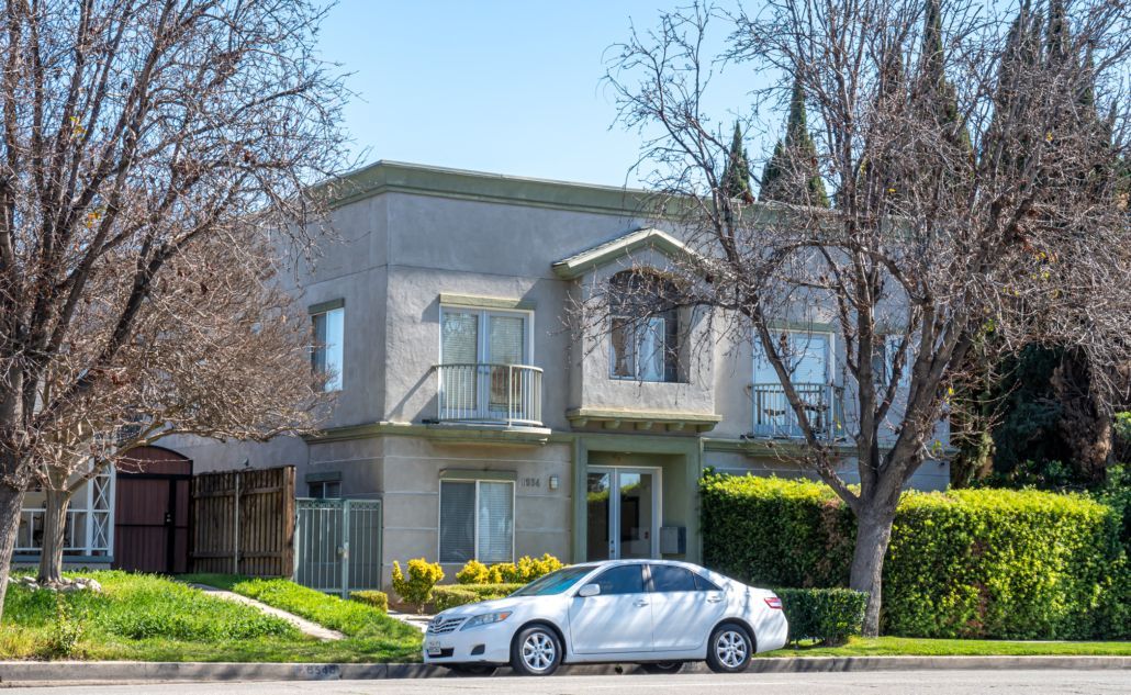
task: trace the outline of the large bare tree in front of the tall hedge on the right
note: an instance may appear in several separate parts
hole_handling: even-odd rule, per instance
[[[1131,106],[1128,6],[1026,1],[1024,32],[979,7],[768,0],[750,16],[696,5],[633,33],[610,71],[621,121],[648,138],[638,167],[651,167],[696,251],[668,269],[679,290],[662,303],[705,307],[717,331],[765,353],[801,459],[856,516],[851,585],[870,596],[869,635],[896,505],[943,454],[940,424],[970,350],[1080,350],[1107,400],[1116,380],[1105,374],[1129,354],[1131,233],[1110,175]],[[803,93],[831,209],[726,194],[727,139],[702,101],[722,64],[703,54],[711,23],[728,26],[727,69],[774,76],[759,102]],[[1110,115],[1095,118],[1097,104]],[[783,174],[805,190],[809,172]],[[798,356],[780,325],[806,320],[838,325],[847,453],[791,383]]]

